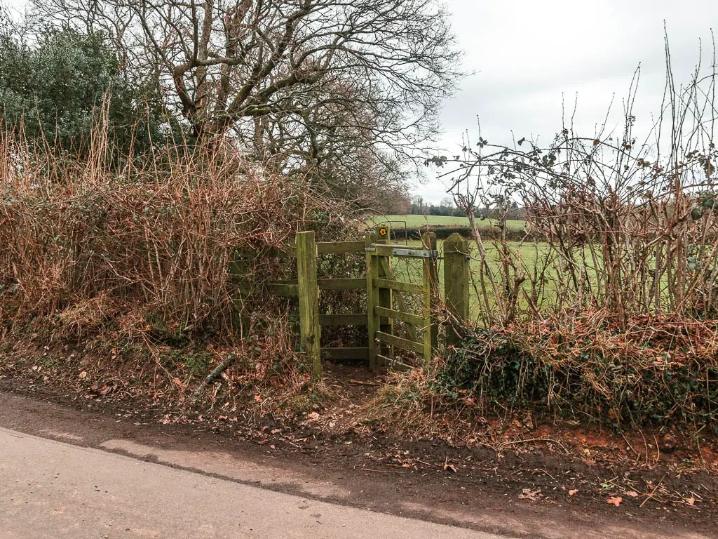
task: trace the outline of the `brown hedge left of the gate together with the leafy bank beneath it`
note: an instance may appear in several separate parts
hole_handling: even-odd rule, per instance
[[[320,400],[266,287],[292,261],[256,255],[345,234],[347,203],[224,140],[110,147],[102,121],[83,162],[0,130],[0,369],[226,414]]]

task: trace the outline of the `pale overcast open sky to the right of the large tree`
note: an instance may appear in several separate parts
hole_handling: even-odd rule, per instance
[[[715,0],[445,0],[454,32],[474,74],[447,101],[442,119],[444,148],[458,155],[462,132],[489,142],[510,142],[510,131],[550,142],[561,129],[561,99],[573,107],[576,126],[592,136],[612,98],[612,125],[620,129],[623,97],[641,66],[641,117],[660,110],[665,83],[665,21],[677,82],[687,82],[699,58],[712,63]],[[705,60],[705,58],[704,58]],[[429,177],[433,174],[430,172]],[[427,201],[445,196],[442,183],[429,180],[416,193]]]

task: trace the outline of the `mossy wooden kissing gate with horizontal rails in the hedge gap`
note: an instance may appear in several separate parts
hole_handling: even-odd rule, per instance
[[[372,370],[378,367],[402,369],[410,367],[401,361],[403,356],[399,351],[412,352],[424,362],[430,361],[436,352],[438,326],[432,318],[439,288],[436,235],[424,234],[422,245],[416,248],[389,244],[387,238],[387,229],[381,227],[366,234],[364,241],[315,242],[313,231],[299,232],[295,246],[274,254],[297,259],[297,280],[273,282],[271,287],[277,295],[299,298],[300,350],[311,361],[314,379],[322,376],[322,359],[364,359],[368,360]],[[457,251],[457,260],[463,261],[465,250],[462,247]],[[348,253],[365,253],[365,277],[317,278],[317,255]],[[421,259],[421,282],[399,280],[392,267],[392,259],[396,258]],[[241,275],[238,264],[243,262],[246,260],[241,257],[233,262],[234,273]],[[444,272],[445,279],[454,273]],[[365,313],[320,314],[320,290],[365,291],[367,310]],[[411,306],[416,302],[407,300],[410,295],[421,298],[420,308],[414,309],[420,312],[411,312]],[[450,296],[447,292],[447,299]],[[465,308],[467,300],[453,303]],[[395,331],[397,322],[406,324],[405,336],[399,336]],[[322,326],[367,326],[367,346],[322,347]]]

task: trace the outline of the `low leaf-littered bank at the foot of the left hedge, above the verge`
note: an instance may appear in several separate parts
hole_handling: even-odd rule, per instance
[[[80,318],[73,321],[80,323]],[[73,342],[53,337],[52,328],[36,322],[0,336],[0,373],[67,395],[258,420],[285,415],[285,409],[294,413],[327,393],[322,384],[312,383],[304,354],[294,351],[293,341],[282,313],[256,321],[246,338],[185,346],[158,341],[150,330],[117,328]]]

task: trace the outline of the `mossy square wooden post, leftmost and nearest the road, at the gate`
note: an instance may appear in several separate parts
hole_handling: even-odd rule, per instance
[[[314,231],[297,233],[297,288],[299,290],[300,346],[309,357],[312,379],[322,379],[317,286],[317,244]]]

